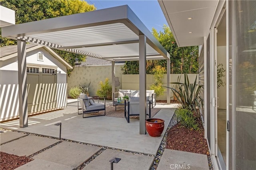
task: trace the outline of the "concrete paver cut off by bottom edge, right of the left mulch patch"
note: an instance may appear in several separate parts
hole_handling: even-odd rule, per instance
[[[72,170],[70,166],[57,164],[47,160],[34,159],[15,170]]]

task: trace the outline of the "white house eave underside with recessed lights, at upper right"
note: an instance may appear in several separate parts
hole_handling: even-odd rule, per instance
[[[219,0],[158,0],[178,47],[203,45]]]

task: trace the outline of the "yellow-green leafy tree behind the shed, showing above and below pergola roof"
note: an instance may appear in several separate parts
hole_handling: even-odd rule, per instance
[[[0,0],[0,3],[15,11],[16,24],[96,10],[94,5],[82,0]],[[16,44],[16,40],[3,38],[1,34],[0,47]],[[54,51],[72,66],[75,65],[76,58],[78,63],[86,59],[83,55],[56,49]]]

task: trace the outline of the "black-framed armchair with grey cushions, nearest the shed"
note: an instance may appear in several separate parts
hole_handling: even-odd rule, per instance
[[[104,99],[104,104],[99,103],[99,99]],[[98,103],[94,100],[98,100]],[[106,115],[106,98],[99,98],[98,96],[88,97],[86,94],[80,94],[80,96],[77,98],[77,101],[78,115],[82,114],[83,118]],[[104,110],[104,115],[84,116],[86,113],[94,113],[102,110]]]

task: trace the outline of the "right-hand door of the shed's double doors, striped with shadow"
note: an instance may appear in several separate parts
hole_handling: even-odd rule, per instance
[[[56,70],[42,67],[41,73],[41,110],[56,107]]]

